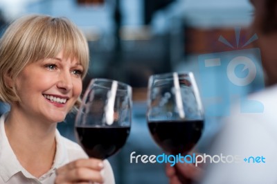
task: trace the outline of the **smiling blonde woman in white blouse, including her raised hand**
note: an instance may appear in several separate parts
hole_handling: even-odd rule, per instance
[[[68,19],[29,15],[0,41],[0,183],[114,183],[107,160],[88,158],[57,122],[78,107],[87,40]]]

